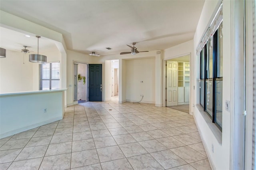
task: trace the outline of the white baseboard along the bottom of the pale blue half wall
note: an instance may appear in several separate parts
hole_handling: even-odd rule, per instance
[[[43,126],[43,125],[46,125],[46,124],[49,124],[49,123],[52,123],[52,122],[55,122],[55,121],[58,121],[58,120],[62,120],[62,116],[58,116],[56,118],[52,118],[52,119],[49,119],[49,120],[46,120],[46,121],[43,121],[43,122],[39,122],[39,123],[36,123],[36,124],[32,124],[32,125],[29,125],[29,126],[25,126],[25,127],[22,127],[22,128],[11,130],[9,132],[1,133],[0,134],[0,139],[6,138],[8,136],[12,136],[14,134],[18,134],[20,132],[24,132],[26,130],[37,128],[38,126]]]

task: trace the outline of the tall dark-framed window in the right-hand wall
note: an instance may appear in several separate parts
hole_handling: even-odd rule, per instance
[[[222,130],[222,22],[200,52],[200,104]]]

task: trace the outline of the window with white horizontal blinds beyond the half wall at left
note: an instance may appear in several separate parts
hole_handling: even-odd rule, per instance
[[[60,88],[60,63],[39,64],[39,90]]]

